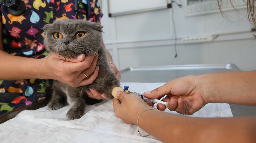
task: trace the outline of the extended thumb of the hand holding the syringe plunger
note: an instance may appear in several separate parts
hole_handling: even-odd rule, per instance
[[[172,89],[172,83],[171,81],[169,81],[152,91],[144,92],[144,96],[149,99],[157,99],[159,97],[163,97],[167,94],[170,94],[171,89]]]

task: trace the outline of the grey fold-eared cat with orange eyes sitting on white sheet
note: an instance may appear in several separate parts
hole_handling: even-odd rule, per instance
[[[112,99],[112,89],[119,87],[119,80],[111,71],[106,52],[101,45],[102,28],[103,26],[99,23],[68,19],[56,20],[43,27],[44,46],[49,52],[57,52],[66,58],[76,58],[80,54],[96,55],[98,51],[99,74],[92,84],[71,87],[59,81],[53,81],[53,96],[47,106],[56,110],[63,107],[67,101],[71,106],[66,115],[69,120],[82,117],[85,104],[100,102],[87,96],[86,91],[89,91],[89,88],[105,93],[109,99]]]

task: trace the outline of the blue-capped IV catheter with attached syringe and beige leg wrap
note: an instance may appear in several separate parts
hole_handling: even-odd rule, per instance
[[[139,93],[137,93],[137,92],[131,92],[131,91],[129,91],[128,88],[129,88],[129,86],[124,86],[124,89],[121,88],[121,87],[114,87],[114,88],[112,89],[112,96],[113,96],[114,98],[117,98],[117,92],[118,92],[118,91],[124,91],[124,92],[126,92],[127,94],[135,94],[135,95],[138,95],[139,97],[141,97],[141,98],[142,98],[145,102],[147,102],[147,103],[151,103],[151,102],[153,102],[153,103],[160,103],[160,104],[164,104],[165,107],[168,108],[168,103],[169,103],[169,101],[168,101],[168,102],[164,102],[164,101],[161,101],[161,100],[158,100],[158,99],[148,99],[148,98],[144,97],[143,94],[139,94]]]

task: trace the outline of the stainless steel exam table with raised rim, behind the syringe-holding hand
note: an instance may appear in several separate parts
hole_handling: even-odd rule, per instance
[[[235,64],[130,67],[120,71],[121,82],[168,82],[186,75],[241,71]],[[229,104],[233,116],[255,116],[256,106]]]

